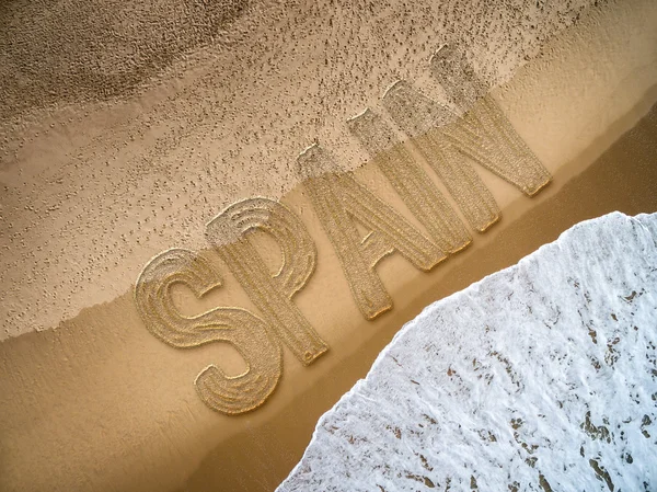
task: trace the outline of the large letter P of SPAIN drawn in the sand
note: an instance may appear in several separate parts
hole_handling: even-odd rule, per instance
[[[274,276],[249,240],[255,230],[268,233],[280,247],[283,263]],[[278,202],[247,198],[212,219],[206,239],[297,359],[309,365],[328,350],[292,302],[314,272],[318,255],[301,219]]]

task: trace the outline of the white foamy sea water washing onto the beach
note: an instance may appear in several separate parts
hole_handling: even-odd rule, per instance
[[[428,306],[322,416],[291,491],[657,490],[657,214]]]

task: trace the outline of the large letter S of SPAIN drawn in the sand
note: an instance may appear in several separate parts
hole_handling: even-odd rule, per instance
[[[182,316],[171,299],[171,287],[184,284],[201,297],[220,286],[221,277],[203,256],[172,249],[153,258],[135,286],[137,309],[148,330],[177,348],[228,342],[246,362],[244,374],[228,377],[217,366],[206,367],[194,381],[210,409],[233,415],[258,408],[272,394],[283,371],[280,344],[261,319],[240,308],[216,308]]]

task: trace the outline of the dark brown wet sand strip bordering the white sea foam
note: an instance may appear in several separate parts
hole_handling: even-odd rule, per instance
[[[623,127],[625,122],[618,122]],[[615,128],[614,128],[615,129]],[[613,135],[613,130],[610,134]],[[598,153],[601,137],[572,164],[577,168]],[[379,352],[399,330],[399,319],[415,318],[436,299],[459,291],[473,282],[514,265],[542,244],[554,241],[575,224],[613,210],[629,215],[657,211],[657,106],[635,127],[578,175],[566,167],[554,176],[553,186],[537,197],[527,210],[525,204],[505,210],[512,224],[492,231],[486,240],[451,260],[447,271],[427,276],[399,289],[404,297],[395,306],[395,317],[374,323],[362,322],[357,330],[376,330],[368,343],[339,361],[331,376],[320,378],[313,387],[297,396],[266,424],[249,428],[222,443],[185,483],[185,491],[206,490],[221,484],[221,490],[274,490],[291,471],[310,442],[318,419],[361,377]],[[566,178],[569,180],[566,182]],[[261,457],[254,459],[254,456]]]

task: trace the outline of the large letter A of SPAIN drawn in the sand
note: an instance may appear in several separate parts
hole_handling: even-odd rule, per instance
[[[397,251],[426,272],[447,258],[393,208],[358,184],[351,173],[336,172],[333,158],[318,145],[304,150],[297,164],[366,319],[392,309],[392,299],[374,272],[380,260]],[[365,238],[354,220],[370,229]]]

